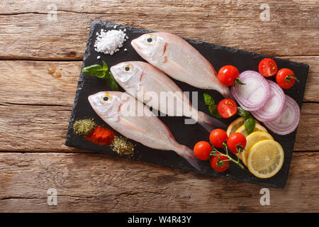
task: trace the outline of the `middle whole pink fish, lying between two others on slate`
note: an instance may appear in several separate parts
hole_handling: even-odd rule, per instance
[[[146,62],[121,62],[112,66],[111,72],[126,92],[163,114],[193,118],[209,133],[214,128],[226,128],[221,121],[195,109],[172,79]]]

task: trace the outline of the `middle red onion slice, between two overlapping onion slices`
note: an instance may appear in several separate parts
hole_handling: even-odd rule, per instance
[[[269,97],[266,104],[257,111],[251,111],[250,114],[258,121],[274,121],[278,118],[285,106],[285,94],[278,84],[267,80],[270,88]]]

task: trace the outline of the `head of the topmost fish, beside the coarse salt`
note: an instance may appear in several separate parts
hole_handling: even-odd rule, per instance
[[[138,54],[147,61],[157,60],[165,52],[166,42],[159,33],[140,35],[130,43]]]

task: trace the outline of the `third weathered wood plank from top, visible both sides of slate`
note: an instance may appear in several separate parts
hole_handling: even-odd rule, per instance
[[[294,150],[319,150],[319,104],[303,104]],[[78,151],[64,145],[71,106],[0,105],[0,151]]]

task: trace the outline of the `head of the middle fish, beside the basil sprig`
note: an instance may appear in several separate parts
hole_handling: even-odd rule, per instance
[[[142,68],[139,62],[121,62],[112,66],[110,70],[116,82],[123,89],[128,90],[131,87],[138,87],[138,82],[142,76]]]

